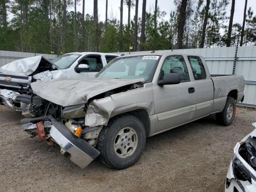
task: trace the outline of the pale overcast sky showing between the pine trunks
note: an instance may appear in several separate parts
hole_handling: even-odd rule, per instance
[[[125,1],[125,0],[124,0]],[[196,0],[192,0],[194,2],[197,2]],[[243,22],[243,14],[244,14],[244,2],[245,0],[236,0],[235,3],[235,12],[234,12],[234,23],[240,23],[242,25]],[[154,11],[155,6],[155,0],[147,0],[146,3],[146,10],[149,12]],[[169,20],[170,18],[170,12],[175,11],[176,7],[173,3],[173,0],[158,0],[158,6],[161,11],[165,11],[166,17],[165,20]],[[120,0],[108,0],[108,18],[110,18],[110,13],[113,13],[114,18],[117,18],[120,20]],[[254,12],[254,16],[256,14],[256,0],[248,0],[247,2],[247,10],[249,7],[252,7],[252,10]],[[71,10],[70,8],[69,10]],[[74,9],[74,8],[73,8]],[[230,16],[230,9],[231,9],[231,0],[230,3],[227,6],[227,16]],[[77,7],[77,10],[82,12],[82,0],[79,2],[79,6]],[[93,0],[85,0],[85,12],[86,14],[93,14]],[[106,12],[106,0],[98,0],[98,18],[101,21],[105,20],[105,12]],[[142,14],[142,0],[139,0],[139,7],[138,7],[138,13],[139,17],[141,17]],[[131,8],[131,18],[135,15],[135,7]],[[124,5],[123,7],[123,23],[126,24],[128,20],[128,6]]]

